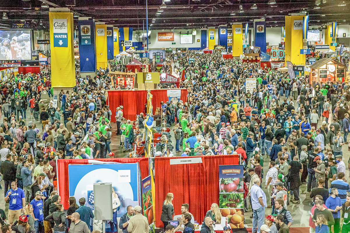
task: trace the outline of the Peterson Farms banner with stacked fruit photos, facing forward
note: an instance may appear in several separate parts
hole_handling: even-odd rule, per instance
[[[221,225],[244,228],[243,165],[219,165],[219,190]]]

